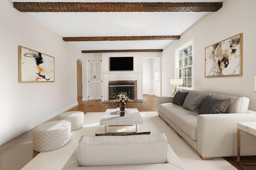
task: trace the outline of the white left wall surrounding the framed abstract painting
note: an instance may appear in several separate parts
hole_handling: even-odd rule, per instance
[[[9,0],[0,1],[0,145],[76,106],[82,53]],[[55,82],[19,82],[18,46],[53,56]]]

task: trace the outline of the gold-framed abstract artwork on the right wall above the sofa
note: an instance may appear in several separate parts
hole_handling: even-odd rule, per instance
[[[242,33],[205,48],[204,76],[242,76]]]

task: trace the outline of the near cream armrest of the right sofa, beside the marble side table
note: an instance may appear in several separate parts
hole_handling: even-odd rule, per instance
[[[197,117],[197,148],[202,157],[236,156],[237,123],[256,121],[256,113],[204,114]],[[256,139],[241,137],[241,155],[255,155]]]

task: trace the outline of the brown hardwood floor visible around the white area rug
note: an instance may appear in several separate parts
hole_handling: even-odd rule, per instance
[[[138,108],[139,111],[157,111],[157,97],[144,95],[143,102],[132,102],[126,105],[126,108]],[[103,104],[100,100],[82,101],[78,97],[78,106],[68,111],[104,112],[108,108],[116,108],[114,103]],[[54,120],[53,118],[52,120]],[[33,150],[32,130],[12,139],[0,146],[0,170],[20,170],[39,152]],[[238,170],[242,168],[236,165],[236,157],[224,157],[230,164]],[[256,162],[256,156],[246,156],[241,158],[243,162]],[[256,166],[247,166],[248,170],[256,170]]]

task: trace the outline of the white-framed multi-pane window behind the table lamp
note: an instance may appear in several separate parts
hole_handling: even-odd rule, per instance
[[[177,77],[183,78],[183,84],[180,87],[192,88],[192,64],[193,48],[192,42],[186,44],[176,51],[176,71]]]

